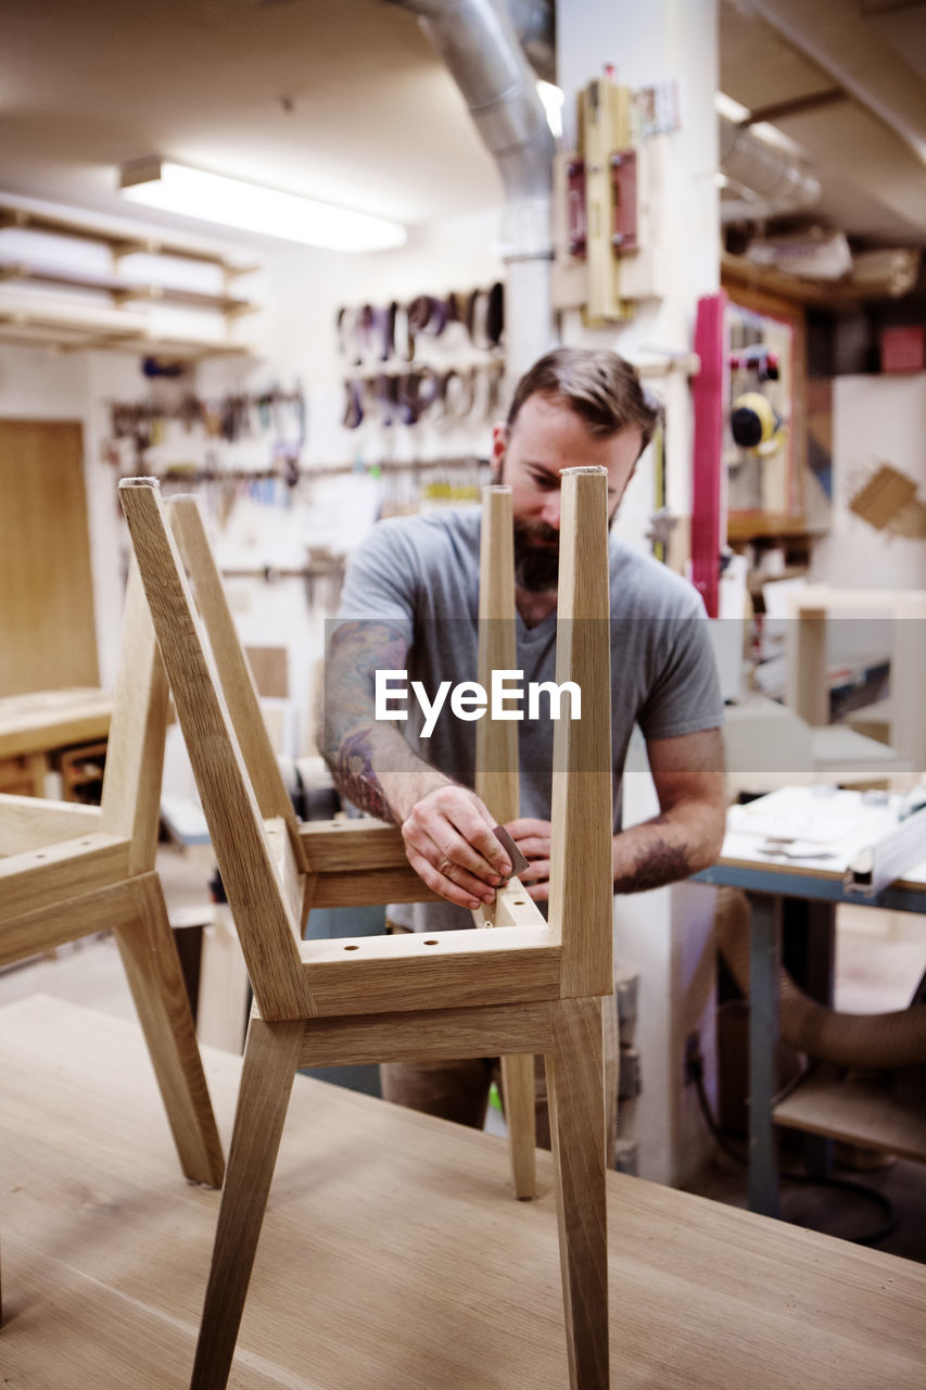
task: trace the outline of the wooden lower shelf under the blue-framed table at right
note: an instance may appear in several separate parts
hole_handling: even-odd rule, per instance
[[[831,1072],[811,1072],[780,1101],[776,1125],[825,1138],[884,1150],[926,1163],[926,1111],[922,1102],[901,1104],[884,1081]]]

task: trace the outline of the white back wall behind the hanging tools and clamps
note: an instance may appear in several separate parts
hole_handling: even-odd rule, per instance
[[[152,382],[139,359],[113,352],[54,353],[47,348],[0,346],[0,416],[19,418],[78,420],[85,441],[85,484],[90,537],[100,678],[115,677],[127,563],[124,523],[118,510],[113,466],[111,403],[145,400],[159,392],[193,391],[203,399],[227,392],[263,392],[275,384],[292,391],[299,384],[307,400],[306,439],[300,464],[304,470],[332,464],[357,466],[352,475],[307,482],[303,513],[314,518],[309,530],[298,527],[291,498],[260,496],[242,485],[236,520],[218,537],[220,562],[242,564],[270,555],[277,566],[300,563],[304,543],[318,538],[345,549],[356,545],[373,524],[384,482],[366,467],[388,457],[455,455],[488,450],[488,421],[473,427],[385,427],[371,418],[362,430],[342,425],[345,374],[352,364],[338,352],[336,313],[342,306],[409,302],[420,293],[488,288],[503,275],[496,252],[499,213],[471,214],[446,222],[413,228],[409,245],[391,253],[346,256],[306,249],[281,249],[263,254],[261,270],[249,278],[247,293],[263,310],[247,322],[254,353],[214,357],[199,363],[181,384]],[[253,253],[250,253],[253,257]],[[256,259],[256,257],[253,257]],[[425,343],[438,356],[473,353],[459,338]],[[189,456],[203,452],[202,442],[185,441]],[[247,452],[247,450],[245,450]],[[270,463],[270,446],[257,441],[249,464]],[[157,450],[142,457],[142,471],[156,471]],[[206,491],[206,489],[203,489]],[[249,492],[254,492],[252,496]],[[207,500],[204,498],[204,500]],[[275,505],[281,502],[282,505]],[[209,503],[207,503],[209,510]],[[250,545],[250,550],[249,550]],[[291,691],[302,716],[299,742],[307,735],[311,669],[321,655],[321,617],[313,620],[307,587],[302,580],[267,584],[234,581],[235,606],[246,642],[281,642],[291,649]],[[324,594],[323,594],[324,598]]]

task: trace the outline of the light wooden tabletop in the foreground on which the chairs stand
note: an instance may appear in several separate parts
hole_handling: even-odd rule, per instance
[[[241,1063],[206,1052],[224,1137]],[[0,1009],[10,1390],[184,1390],[218,1194],[185,1186],[139,1031]],[[549,1156],[296,1077],[234,1390],[563,1390]],[[922,1390],[926,1268],[608,1176],[612,1384]]]

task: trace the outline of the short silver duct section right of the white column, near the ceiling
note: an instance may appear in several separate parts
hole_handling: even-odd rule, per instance
[[[820,196],[820,182],[795,160],[773,150],[747,126],[729,117],[720,121],[720,171],[754,197],[722,199],[720,221],[736,222],[798,213]]]

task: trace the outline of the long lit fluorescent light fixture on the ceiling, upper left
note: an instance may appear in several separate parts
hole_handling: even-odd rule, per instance
[[[406,242],[405,227],[384,217],[204,174],[168,160],[147,158],[125,165],[120,192],[133,203],[328,250],[380,252]]]

